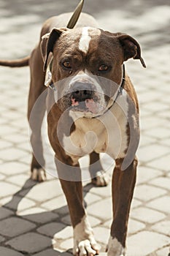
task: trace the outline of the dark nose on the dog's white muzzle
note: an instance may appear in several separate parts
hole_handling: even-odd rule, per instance
[[[74,83],[72,86],[72,97],[79,102],[93,97],[93,85],[90,83]]]

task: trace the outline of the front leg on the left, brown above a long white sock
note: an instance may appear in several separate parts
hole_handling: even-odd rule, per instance
[[[61,162],[56,163],[56,166],[58,169],[58,176],[61,181],[61,187],[66,195],[72,226],[74,229],[73,254],[77,256],[96,255],[98,254],[99,246],[94,239],[93,230],[90,227],[90,223],[88,222],[85,208],[83,206],[80,167],[70,166],[68,170],[68,165],[63,165]],[[64,171],[67,172],[66,176],[64,175]],[[75,177],[75,175],[77,177]],[[77,181],[73,181],[73,176],[74,179],[77,178]]]

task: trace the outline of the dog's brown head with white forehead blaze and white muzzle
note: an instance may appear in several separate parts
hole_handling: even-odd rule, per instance
[[[58,105],[98,116],[111,105],[123,80],[123,62],[140,59],[139,43],[127,34],[90,27],[53,29],[42,37],[44,69],[53,57]]]

